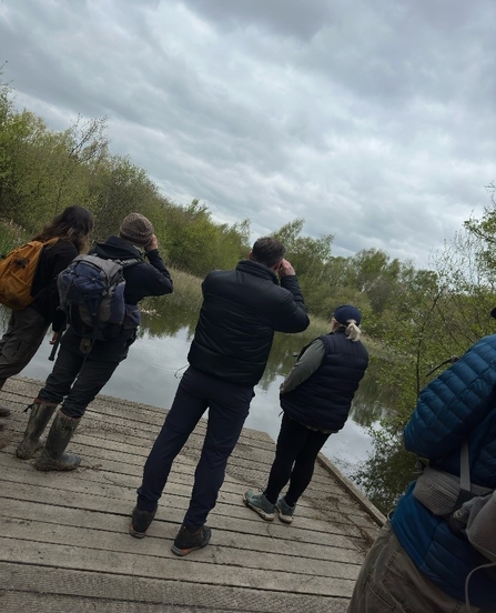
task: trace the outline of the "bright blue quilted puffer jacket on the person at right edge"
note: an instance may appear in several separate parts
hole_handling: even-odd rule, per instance
[[[472,482],[496,488],[496,335],[474,344],[421,392],[404,432],[406,449],[456,475],[465,438]],[[393,530],[418,570],[464,601],[465,579],[487,560],[421,504],[413,496],[413,485],[398,502]],[[494,570],[472,575],[469,600],[474,606],[496,611]]]

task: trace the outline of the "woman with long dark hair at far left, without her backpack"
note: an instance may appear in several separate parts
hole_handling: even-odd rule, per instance
[[[12,311],[7,331],[0,339],[0,390],[6,381],[29,364],[42,343],[50,324],[55,343],[64,328],[65,315],[59,309],[57,277],[72,260],[88,249],[93,230],[93,215],[78,204],[68,207],[49,221],[32,240],[50,242],[43,248],[34,274],[31,294],[33,301],[21,311]],[[0,406],[0,416],[8,416],[9,409]],[[0,421],[0,430],[4,423]]]

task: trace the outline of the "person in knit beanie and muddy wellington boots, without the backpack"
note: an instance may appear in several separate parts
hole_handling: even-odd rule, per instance
[[[30,406],[24,438],[16,452],[22,460],[31,458],[39,448],[39,439],[57,405],[62,403],[44,448],[34,462],[39,471],[69,471],[78,468],[81,459],[64,453],[65,448],[88,404],[128,356],[141,319],[139,302],[148,295],[172,292],[171,275],[159,253],[153,224],[141,213],[130,213],[122,221],[119,235],[98,242],[90,253],[123,263],[126,314],[123,323],[105,328],[105,340],[92,339],[89,352],[81,351],[81,341],[85,335],[82,322],[77,316],[71,318],[71,324],[60,341],[53,371]]]

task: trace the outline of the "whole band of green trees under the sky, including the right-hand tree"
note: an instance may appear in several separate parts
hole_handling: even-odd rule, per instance
[[[198,277],[246,257],[249,219],[215,223],[199,200],[171,201],[145,170],[111,153],[105,132],[103,119],[82,118],[64,131],[49,130],[40,117],[16,108],[11,88],[0,80],[0,251],[79,203],[95,217],[97,240],[115,233],[131,211],[143,213],[155,227],[166,262]],[[382,346],[374,359],[381,362],[382,402],[389,411],[378,453],[360,475],[382,508],[386,492],[399,491],[406,479],[405,469],[398,483],[386,483],[392,463],[409,465],[398,451],[399,434],[426,373],[496,329],[489,316],[496,306],[495,185],[488,189],[483,218],[465,222],[433,259],[432,270],[417,270],[378,249],[334,257],[334,235],[302,235],[303,219],[273,232],[287,248],[310,312],[328,320],[336,305],[352,302],[363,312],[364,332]]]

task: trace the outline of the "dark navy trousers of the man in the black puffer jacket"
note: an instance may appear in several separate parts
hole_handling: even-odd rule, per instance
[[[209,409],[206,434],[194,473],[190,508],[184,516],[188,526],[203,525],[215,506],[229,456],[240,438],[253,395],[252,385],[221,381],[190,366],[144,465],[138,508],[142,511],[156,508],[172,462]]]

